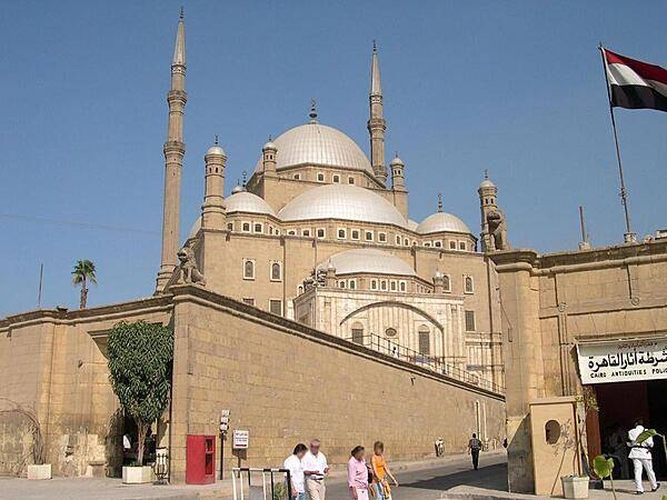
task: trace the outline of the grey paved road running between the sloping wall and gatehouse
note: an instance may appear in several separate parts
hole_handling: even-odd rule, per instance
[[[442,491],[459,484],[507,491],[507,458],[480,458],[479,470],[471,470],[469,459],[447,462],[437,468],[402,471],[396,474],[400,483],[392,489],[394,500],[435,500]],[[345,482],[327,484],[327,500],[349,500]]]

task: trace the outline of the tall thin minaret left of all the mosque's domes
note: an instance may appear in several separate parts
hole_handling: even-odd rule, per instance
[[[183,113],[186,93],[186,27],[181,9],[176,46],[171,61],[171,89],[167,93],[169,123],[165,142],[165,210],[162,214],[162,261],[158,271],[156,292],[160,293],[176,269],[180,243],[180,186],[186,144],[183,142]]]

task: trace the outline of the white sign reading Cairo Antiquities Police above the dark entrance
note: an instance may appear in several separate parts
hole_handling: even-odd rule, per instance
[[[577,346],[581,383],[667,379],[667,338]]]

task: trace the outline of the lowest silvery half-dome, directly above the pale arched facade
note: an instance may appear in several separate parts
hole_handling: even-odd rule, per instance
[[[336,253],[318,266],[327,269],[330,264],[336,269],[336,274],[398,274],[417,276],[415,270],[405,260],[382,250],[359,248]]]

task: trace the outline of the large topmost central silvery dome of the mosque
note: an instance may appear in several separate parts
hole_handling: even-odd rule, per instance
[[[322,164],[364,170],[372,176],[370,161],[357,143],[332,127],[306,123],[273,140],[278,170],[298,164]],[[261,171],[261,158],[256,171]]]

